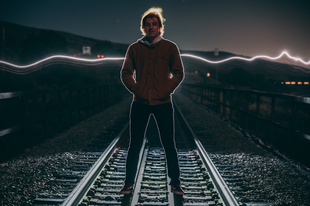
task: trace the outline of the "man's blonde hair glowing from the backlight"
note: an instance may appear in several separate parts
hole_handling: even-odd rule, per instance
[[[143,30],[145,19],[147,18],[153,18],[156,17],[159,24],[159,35],[162,36],[164,34],[164,24],[163,22],[166,20],[162,17],[162,8],[160,7],[152,7],[149,8],[148,11],[144,12],[141,18],[141,27],[140,30],[142,32],[142,35],[145,35],[145,32]]]

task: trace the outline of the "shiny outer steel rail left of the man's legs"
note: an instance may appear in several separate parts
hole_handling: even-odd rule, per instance
[[[81,179],[81,181],[77,184],[77,186],[73,189],[73,191],[69,194],[69,196],[64,200],[61,206],[76,206],[82,200],[83,195],[86,194],[88,189],[91,187],[91,184],[94,182],[97,175],[100,173],[104,164],[108,161],[108,158],[113,153],[118,141],[125,133],[125,131],[129,127],[129,122],[122,129],[122,131],[115,137],[115,139],[110,143],[107,149],[100,155],[95,164],[91,167],[91,169],[85,174],[85,176]]]

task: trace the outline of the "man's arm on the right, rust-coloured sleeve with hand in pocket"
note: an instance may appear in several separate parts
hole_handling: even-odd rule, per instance
[[[176,44],[174,44],[173,51],[171,53],[171,61],[170,61],[170,72],[172,77],[170,79],[171,82],[171,94],[173,94],[174,90],[180,85],[180,83],[184,79],[184,67],[181,59],[181,55],[179,52],[179,48]]]

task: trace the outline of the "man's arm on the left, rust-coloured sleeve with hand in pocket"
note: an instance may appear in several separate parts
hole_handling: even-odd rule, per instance
[[[131,93],[134,93],[136,88],[134,75],[135,75],[134,59],[132,57],[132,53],[129,47],[121,70],[121,80]]]

